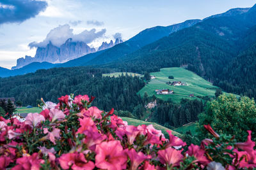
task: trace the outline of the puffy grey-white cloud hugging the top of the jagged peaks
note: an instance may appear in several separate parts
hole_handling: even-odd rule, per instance
[[[61,46],[68,38],[72,38],[72,41],[83,41],[84,43],[92,43],[97,38],[102,37],[106,32],[106,29],[102,29],[99,32],[96,32],[96,29],[91,29],[90,31],[84,30],[79,34],[74,34],[73,29],[70,28],[70,25],[59,25],[58,27],[52,29],[41,42],[32,42],[29,43],[29,46],[32,47],[45,47],[49,41],[52,45]]]

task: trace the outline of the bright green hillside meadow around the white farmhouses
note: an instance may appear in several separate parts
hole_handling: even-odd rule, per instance
[[[147,92],[148,96],[155,95],[163,100],[171,98],[173,101],[180,101],[182,98],[196,99],[198,98],[196,96],[214,96],[215,90],[218,89],[210,82],[182,67],[163,68],[160,72],[150,74],[156,76],[156,79],[151,80],[138,92],[141,96]],[[174,76],[174,79],[169,79],[168,76]],[[166,84],[168,81],[182,81],[186,82],[187,85],[171,86]],[[157,95],[156,89],[170,89],[175,94]],[[194,94],[195,97],[189,97],[189,94]]]

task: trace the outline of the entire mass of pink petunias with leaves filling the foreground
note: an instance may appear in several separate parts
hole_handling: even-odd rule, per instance
[[[62,96],[24,122],[0,117],[0,169],[239,169],[256,167],[251,131],[245,143],[219,135],[186,146],[152,125],[127,125],[90,106],[94,97]],[[185,151],[183,148],[187,148]]]

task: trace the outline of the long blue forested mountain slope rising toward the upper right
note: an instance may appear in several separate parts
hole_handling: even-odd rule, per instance
[[[12,71],[0,68],[0,76],[15,76],[51,67],[100,66],[134,72],[140,72],[140,67],[143,67],[145,71],[152,72],[159,67],[182,66],[214,81],[216,75],[223,72],[223,66],[246,48],[243,45],[247,41],[244,41],[243,35],[256,25],[255,16],[253,6],[235,8],[204,20],[152,27],[108,49],[104,46],[113,45],[113,41],[110,45],[104,42],[102,50],[62,64],[35,62]]]

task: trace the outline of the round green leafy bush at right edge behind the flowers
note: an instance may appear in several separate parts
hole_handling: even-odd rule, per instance
[[[210,124],[216,132],[235,135],[237,139],[246,139],[247,130],[253,131],[256,139],[256,105],[249,97],[221,95],[207,103],[205,113],[199,115],[198,134],[200,139],[208,138],[203,125]]]

